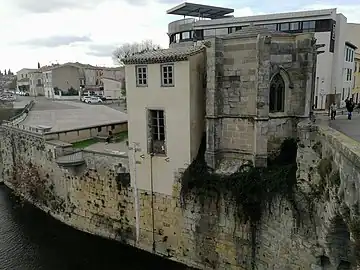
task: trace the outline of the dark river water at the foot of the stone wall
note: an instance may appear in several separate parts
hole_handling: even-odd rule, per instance
[[[76,231],[0,184],[0,270],[180,270],[184,266]]]

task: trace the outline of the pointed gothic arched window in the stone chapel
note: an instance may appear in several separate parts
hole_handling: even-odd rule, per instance
[[[283,112],[285,103],[285,82],[280,74],[276,74],[270,82],[270,112]]]

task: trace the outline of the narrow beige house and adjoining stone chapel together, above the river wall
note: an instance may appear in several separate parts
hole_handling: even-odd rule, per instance
[[[148,189],[151,177],[171,194],[171,179],[196,158],[201,138],[213,168],[236,170],[245,160],[266,166],[309,117],[315,43],[313,33],[250,26],[125,58],[129,143],[142,158],[130,164],[131,179],[136,171],[139,188]]]

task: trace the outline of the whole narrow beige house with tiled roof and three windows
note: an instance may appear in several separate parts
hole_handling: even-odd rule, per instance
[[[205,123],[204,59],[200,46],[125,60],[128,140],[143,160],[130,162],[138,188],[150,190],[153,180],[154,189],[171,194],[174,172],[196,157]]]

